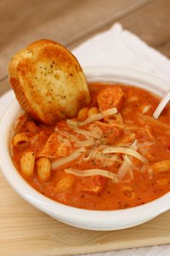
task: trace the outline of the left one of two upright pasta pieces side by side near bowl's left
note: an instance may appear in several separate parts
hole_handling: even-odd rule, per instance
[[[20,160],[20,167],[22,170],[22,173],[30,177],[34,173],[34,168],[35,168],[35,153],[30,151],[30,152],[25,152],[24,155],[22,155],[22,158]]]

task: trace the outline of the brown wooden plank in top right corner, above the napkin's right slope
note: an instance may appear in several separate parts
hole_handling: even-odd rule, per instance
[[[170,1],[159,0],[119,20],[125,29],[170,57]]]

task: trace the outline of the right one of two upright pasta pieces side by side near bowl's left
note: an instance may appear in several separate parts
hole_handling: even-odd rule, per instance
[[[40,158],[37,161],[37,178],[40,182],[48,182],[51,177],[50,160]]]

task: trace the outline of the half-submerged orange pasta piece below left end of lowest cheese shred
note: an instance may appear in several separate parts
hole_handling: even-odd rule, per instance
[[[57,182],[54,191],[58,193],[66,192],[73,186],[74,179],[72,174],[63,174],[61,179]]]

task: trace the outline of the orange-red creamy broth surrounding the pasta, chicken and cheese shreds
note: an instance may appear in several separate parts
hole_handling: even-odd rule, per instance
[[[90,84],[91,106],[97,106],[97,95],[100,90],[112,86],[114,87],[115,85],[104,85],[102,83]],[[94,121],[92,124],[82,126],[80,129],[88,130],[90,125],[94,125],[94,127],[99,127],[102,130],[102,137],[97,140],[98,144],[86,147],[87,156],[91,152],[90,150],[97,148],[97,145],[101,146],[104,143],[107,145],[119,145],[123,138],[133,133],[135,134],[135,140],[138,141],[138,145],[143,145],[141,148],[138,148],[138,152],[147,158],[148,163],[142,163],[138,158],[131,157],[133,167],[117,183],[113,182],[112,179],[100,175],[81,177],[68,174],[64,170],[66,168],[73,168],[83,171],[101,168],[117,174],[123,161],[121,153],[119,154],[119,161],[115,161],[111,165],[108,164],[108,166],[105,160],[102,161],[94,158],[84,161],[82,155],[80,155],[74,161],[53,169],[51,171],[51,177],[47,182],[40,182],[37,179],[36,164],[34,175],[30,177],[24,176],[20,168],[20,158],[25,151],[33,150],[36,159],[40,158],[41,154],[46,154],[51,163],[53,163],[53,161],[63,157],[63,151],[56,153],[58,146],[56,147],[55,145],[55,136],[56,143],[58,143],[58,134],[60,132],[62,134],[62,131],[75,135],[75,132],[69,127],[66,121],[58,122],[56,124],[57,128],[48,127],[45,124],[40,124],[32,120],[28,116],[27,121],[24,122],[19,132],[24,132],[29,137],[30,145],[27,145],[26,148],[23,148],[22,145],[13,148],[12,158],[19,173],[42,195],[76,208],[117,210],[143,205],[169,192],[170,168],[169,171],[155,172],[151,166],[158,161],[170,160],[170,130],[164,126],[161,127],[160,123],[158,125],[152,124],[151,121],[141,118],[141,116],[152,116],[153,111],[160,102],[160,98],[141,88],[135,88],[129,85],[118,86],[120,86],[124,93],[122,106],[118,111],[122,116],[124,129],[122,127],[112,126],[112,123],[114,124],[112,120],[109,120],[110,122],[108,120],[99,120]],[[149,106],[148,111],[142,114],[145,106]],[[158,121],[168,124],[170,127],[170,106],[165,108]],[[115,123],[117,124],[117,121]],[[130,127],[135,128],[131,129]],[[53,141],[49,144],[50,147],[48,147],[48,151],[50,150],[50,152],[47,152],[46,149],[45,153],[42,153],[42,149],[45,147],[45,143],[47,143],[54,129],[56,132],[53,135]],[[86,140],[84,135],[77,135],[77,137],[81,142]],[[66,137],[63,137],[63,140],[66,140]],[[73,150],[77,149],[74,147],[72,141],[69,147],[66,145],[65,147],[64,156],[70,155]]]

